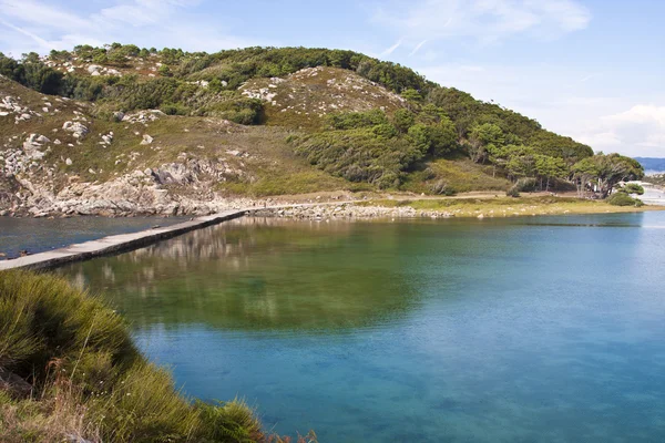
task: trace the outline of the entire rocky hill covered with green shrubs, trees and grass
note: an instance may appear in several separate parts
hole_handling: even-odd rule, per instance
[[[352,51],[113,43],[0,54],[0,74],[4,175],[41,200],[105,194],[125,212],[135,198],[177,212],[185,197],[331,189],[583,195],[611,175],[605,197],[642,175],[621,156],[607,157],[612,171],[602,158],[580,165],[595,158],[590,146]]]

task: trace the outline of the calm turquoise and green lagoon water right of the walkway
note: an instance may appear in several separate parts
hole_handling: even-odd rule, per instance
[[[242,219],[62,271],[321,442],[665,441],[665,214]]]

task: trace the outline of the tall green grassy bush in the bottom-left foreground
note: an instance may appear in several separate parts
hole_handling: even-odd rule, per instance
[[[0,441],[80,439],[288,441],[266,435],[243,401],[207,404],[184,396],[99,299],[53,276],[0,272]]]

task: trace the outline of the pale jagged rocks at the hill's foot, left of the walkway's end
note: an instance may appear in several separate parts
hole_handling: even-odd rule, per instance
[[[70,182],[55,192],[50,182],[14,176],[19,193],[0,194],[0,210],[33,217],[59,215],[207,215],[252,204],[244,198],[224,198],[215,184],[244,176],[223,158],[198,159],[181,156],[181,162],[134,171],[103,183]],[[66,165],[73,162],[64,161]]]

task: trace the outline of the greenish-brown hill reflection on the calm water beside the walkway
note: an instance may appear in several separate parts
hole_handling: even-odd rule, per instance
[[[103,290],[136,326],[352,328],[417,299],[395,254],[398,226],[395,236],[352,227],[244,218],[64,272],[80,287]]]

